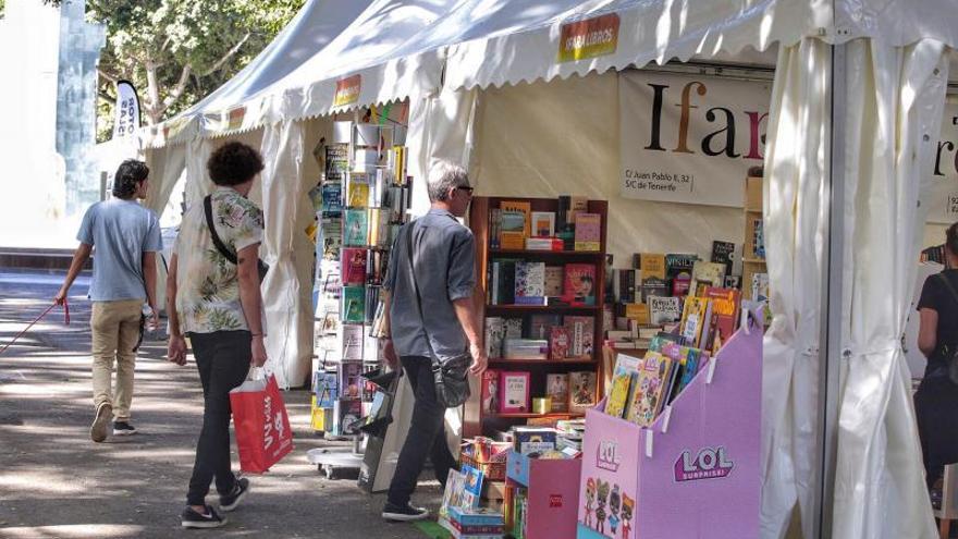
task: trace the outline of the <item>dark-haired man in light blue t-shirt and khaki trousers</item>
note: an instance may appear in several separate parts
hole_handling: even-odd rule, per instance
[[[157,323],[157,252],[163,249],[157,215],[142,207],[149,169],[143,161],[127,159],[113,179],[113,199],[97,203],[83,216],[76,238],[79,247],[60,292],[53,298],[62,305],[70,286],[96,247],[93,299],[93,382],[96,415],[90,439],[102,442],[113,421],[113,434],[136,433],[130,424],[133,401],[133,368],[143,335],[144,303],[150,322]],[[116,391],[111,391],[113,360],[116,360]]]

